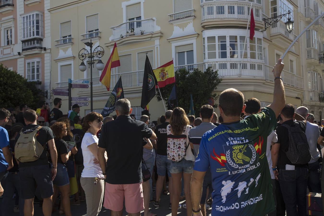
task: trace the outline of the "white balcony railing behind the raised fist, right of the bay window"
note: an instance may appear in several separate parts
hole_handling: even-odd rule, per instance
[[[274,82],[274,77],[272,73],[272,68],[269,65],[265,65],[265,80]],[[290,85],[296,88],[303,89],[304,88],[304,78],[297,76],[296,74],[290,73],[286,70],[283,70],[281,73],[281,78],[283,79],[283,83],[285,85]]]

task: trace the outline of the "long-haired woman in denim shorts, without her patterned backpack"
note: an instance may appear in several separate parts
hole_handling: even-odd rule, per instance
[[[189,119],[185,111],[177,107],[173,109],[170,121],[170,125],[167,127],[168,135],[181,135],[186,134],[186,146],[189,145],[189,130],[191,126],[189,125]],[[191,195],[190,195],[190,182],[191,175],[193,172],[193,163],[195,157],[191,152],[191,148],[188,147],[186,150],[186,156],[179,162],[171,161],[170,173],[172,176],[173,183],[173,197],[171,203],[171,215],[176,216],[179,206],[179,198],[181,193],[181,178],[183,175],[184,180],[184,193],[186,196],[186,205],[187,205],[187,216],[192,215],[192,204],[191,204]]]

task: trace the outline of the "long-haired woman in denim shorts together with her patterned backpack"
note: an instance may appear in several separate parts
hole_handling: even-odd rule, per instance
[[[173,195],[172,195],[172,203],[171,203],[171,212],[172,216],[177,215],[179,208],[179,198],[181,193],[181,177],[183,175],[184,181],[184,193],[186,196],[186,205],[187,205],[187,216],[192,215],[192,204],[191,204],[191,195],[190,195],[190,182],[191,175],[193,173],[193,163],[195,157],[191,151],[191,147],[189,146],[189,130],[191,126],[189,125],[189,119],[185,111],[177,107],[173,109],[169,125],[167,126],[167,134],[168,134],[168,158],[171,158],[171,168],[170,173],[172,176],[173,183]],[[172,136],[183,136],[181,142],[184,143],[184,136],[186,136],[185,148],[182,149],[177,143],[177,140],[172,140]],[[177,146],[178,147],[174,147]],[[183,146],[183,144],[182,144]],[[170,148],[169,148],[170,147]],[[185,156],[183,157],[185,152]],[[177,162],[179,161],[179,162]]]

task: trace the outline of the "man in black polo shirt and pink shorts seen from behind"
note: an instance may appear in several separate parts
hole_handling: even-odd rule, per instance
[[[119,99],[115,106],[118,117],[104,124],[98,143],[98,160],[106,179],[104,207],[111,210],[111,215],[121,216],[125,198],[126,211],[139,216],[144,209],[143,138],[155,140],[156,135],[144,122],[129,116],[132,113],[129,100]],[[152,144],[146,145],[153,148]]]

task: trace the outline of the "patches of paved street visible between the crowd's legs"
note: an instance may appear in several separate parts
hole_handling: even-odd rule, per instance
[[[2,201],[2,199],[0,199]],[[1,203],[0,201],[0,203]],[[160,207],[159,208],[156,208],[153,206],[153,202],[150,203],[150,212],[152,213],[156,213],[158,216],[171,216],[171,210],[169,210],[169,196],[168,195],[162,195],[161,196],[161,202],[160,202]],[[180,202],[181,204],[184,204],[186,203],[186,201],[182,201]],[[13,204],[14,204],[14,200],[12,200],[12,208],[13,208]],[[9,207],[11,208],[11,207]],[[74,216],[85,216],[86,213],[87,213],[87,207],[86,207],[86,202],[81,202],[81,205],[79,206],[75,206],[75,205],[71,205],[71,211],[72,211],[72,215]],[[207,211],[208,215],[210,216],[211,215],[211,210],[208,210]],[[39,207],[39,204],[34,204],[34,215],[35,216],[42,216],[43,213],[42,213],[42,209],[41,207]],[[53,212],[52,214],[53,216],[58,216],[59,215],[59,212],[58,211],[55,211]],[[123,212],[123,216],[126,216],[127,213],[124,209],[124,212]],[[143,215],[143,213],[142,213]],[[179,216],[185,216],[186,215],[186,209],[184,208],[180,208],[178,210],[178,215]],[[2,216],[5,216],[5,215],[2,215]],[[6,215],[7,216],[7,215]],[[19,213],[12,213],[12,216],[19,216]],[[105,209],[102,209],[99,216],[110,216],[110,210],[105,210]]]

